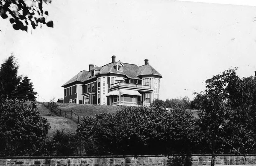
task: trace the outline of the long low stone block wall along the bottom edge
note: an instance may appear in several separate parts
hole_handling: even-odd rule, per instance
[[[0,166],[203,166],[210,155],[0,157]],[[256,155],[218,155],[215,165],[256,165]]]

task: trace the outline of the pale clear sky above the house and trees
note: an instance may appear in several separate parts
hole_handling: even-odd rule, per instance
[[[13,52],[41,102],[63,98],[66,81],[112,55],[138,66],[148,58],[163,76],[162,100],[192,100],[229,68],[256,71],[256,1],[53,0],[44,10],[54,28],[15,31],[0,18],[0,63]]]

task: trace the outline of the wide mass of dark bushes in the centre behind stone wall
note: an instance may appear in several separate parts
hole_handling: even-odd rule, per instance
[[[77,133],[94,154],[191,153],[196,145],[192,114],[175,106],[121,107],[116,113],[84,117]]]

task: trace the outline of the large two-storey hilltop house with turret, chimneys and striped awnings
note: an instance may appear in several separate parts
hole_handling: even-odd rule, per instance
[[[143,66],[115,61],[103,66],[89,65],[67,81],[64,103],[94,105],[150,105],[160,96],[162,75],[145,59]]]

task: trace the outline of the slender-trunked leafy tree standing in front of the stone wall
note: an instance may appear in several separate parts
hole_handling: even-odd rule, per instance
[[[215,162],[216,137],[220,129],[226,126],[231,118],[231,102],[227,86],[237,78],[235,69],[225,70],[221,74],[206,80],[206,88],[197,93],[199,118],[203,132],[210,136],[208,143],[211,143],[212,160]]]

